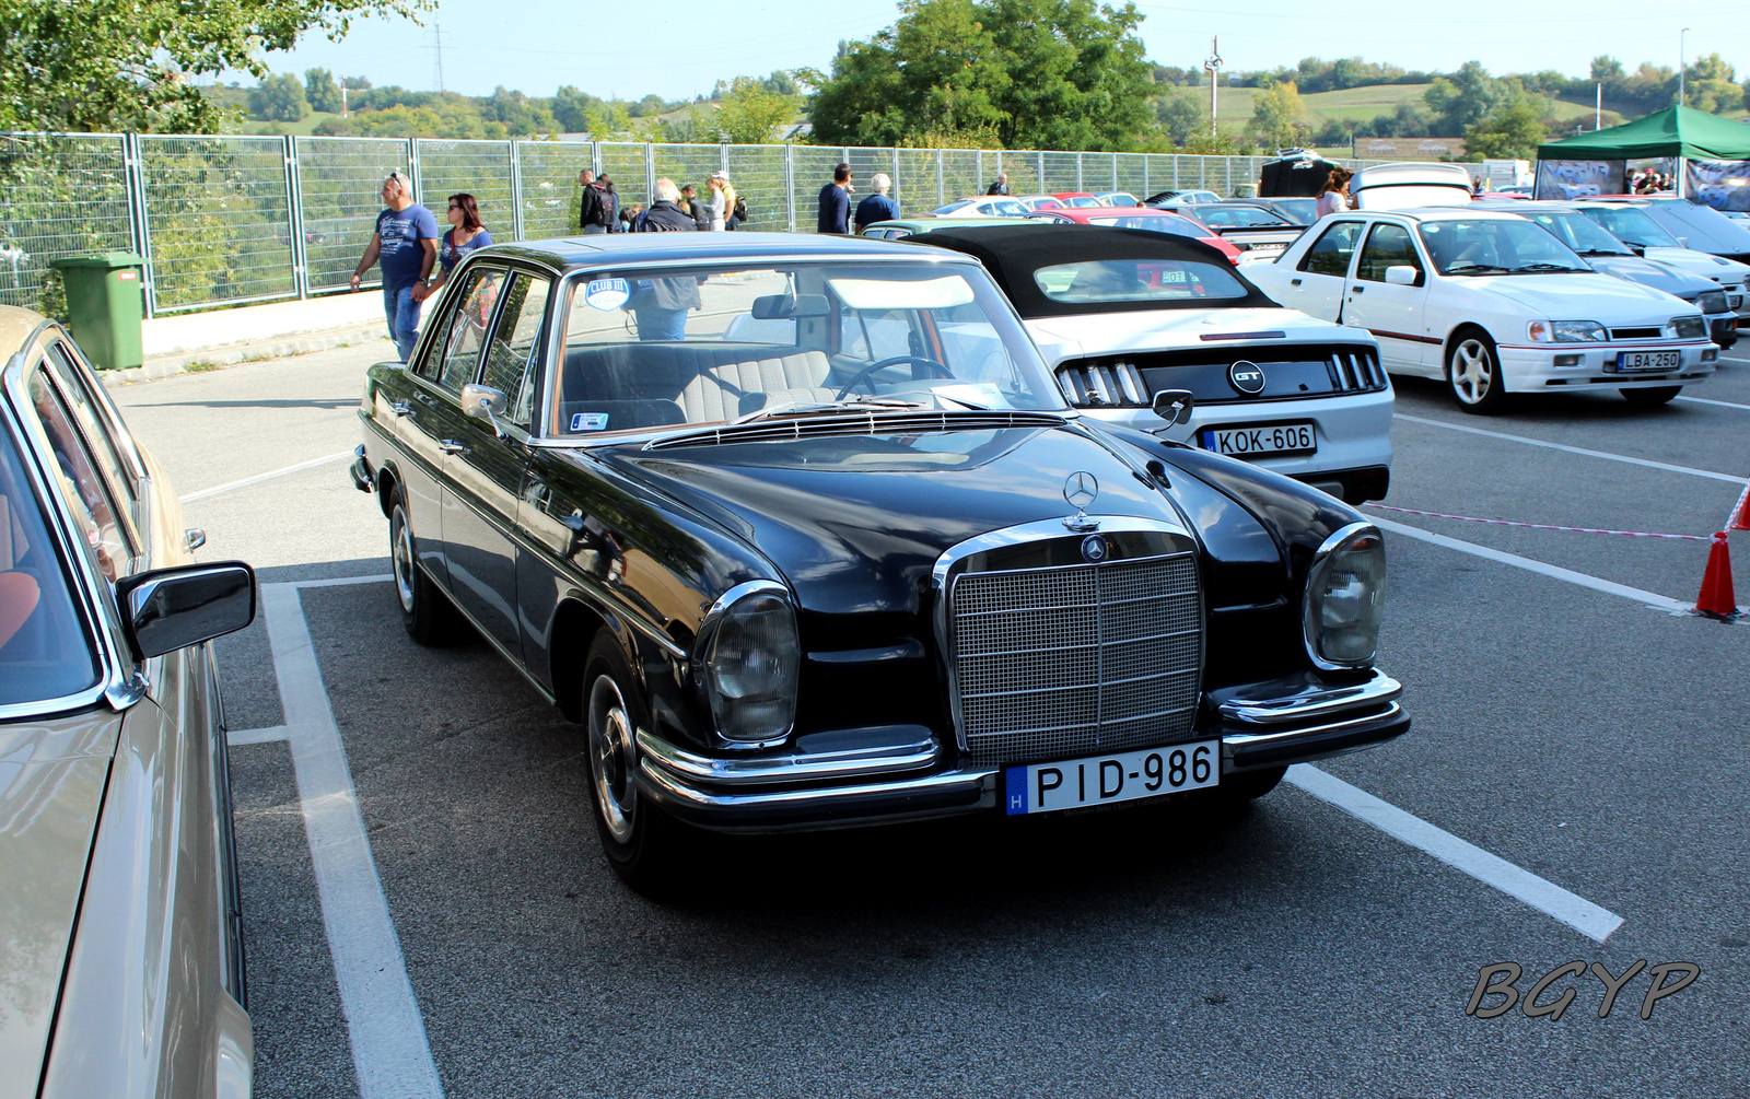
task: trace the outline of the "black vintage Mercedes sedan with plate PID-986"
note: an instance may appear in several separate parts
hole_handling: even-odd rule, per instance
[[[1379,530],[1080,415],[968,256],[488,247],[359,413],[408,630],[584,724],[640,889],[695,828],[1244,802],[1409,728]]]

